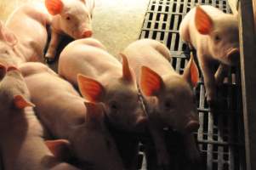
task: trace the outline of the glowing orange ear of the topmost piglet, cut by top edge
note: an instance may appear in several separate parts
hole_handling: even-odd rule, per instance
[[[60,14],[63,9],[61,0],[45,0],[45,6],[48,9],[48,13],[52,15]]]

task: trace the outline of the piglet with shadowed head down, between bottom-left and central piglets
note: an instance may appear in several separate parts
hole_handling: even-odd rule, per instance
[[[123,169],[100,104],[85,103],[71,83],[46,65],[26,63],[20,70],[31,92],[31,101],[37,105],[37,116],[54,137],[70,141],[71,153],[82,168]]]

